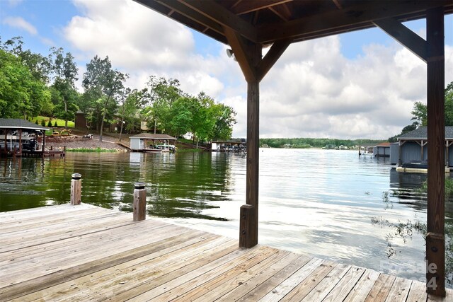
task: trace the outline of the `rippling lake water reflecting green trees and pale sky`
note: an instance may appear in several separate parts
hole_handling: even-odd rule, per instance
[[[239,238],[246,194],[239,154],[1,159],[0,211],[68,202],[72,173],[82,175],[82,202],[131,211],[134,182],[143,181],[150,216]],[[425,223],[426,197],[418,191],[425,178],[357,151],[260,149],[259,243],[424,281],[423,236],[406,228],[397,234],[389,223]]]

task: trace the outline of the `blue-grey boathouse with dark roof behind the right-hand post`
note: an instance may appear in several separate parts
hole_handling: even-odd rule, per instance
[[[453,127],[445,127],[445,167],[453,167]],[[418,127],[390,144],[390,163],[402,166],[413,161],[428,161],[428,128]]]

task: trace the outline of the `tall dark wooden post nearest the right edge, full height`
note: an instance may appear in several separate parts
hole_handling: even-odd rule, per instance
[[[427,11],[427,291],[445,296],[445,57],[443,8]]]

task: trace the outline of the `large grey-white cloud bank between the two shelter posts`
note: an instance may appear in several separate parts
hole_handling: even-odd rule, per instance
[[[346,59],[338,37],[290,45],[261,84],[261,137],[386,139],[425,102],[426,65],[396,42]],[[446,47],[446,83],[452,79]]]

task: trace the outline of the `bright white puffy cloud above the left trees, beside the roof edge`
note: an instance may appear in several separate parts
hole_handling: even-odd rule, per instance
[[[134,1],[76,0],[84,16],[74,16],[64,35],[93,57],[109,56],[124,69],[161,71],[184,66],[194,40],[188,28]],[[133,16],[133,17],[132,17]]]

